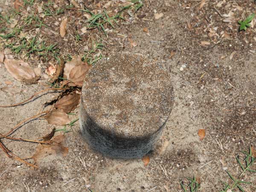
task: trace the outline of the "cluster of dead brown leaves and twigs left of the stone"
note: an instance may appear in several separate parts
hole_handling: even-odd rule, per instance
[[[3,63],[6,70],[10,73],[10,75],[25,84],[38,83],[38,80],[41,78],[41,68],[32,69],[29,63],[24,62],[22,60],[15,59],[11,54],[9,49],[5,49],[4,51],[0,51],[0,64]],[[1,134],[0,140],[3,138],[17,140],[17,141],[27,141],[39,143],[35,155],[33,155],[34,162],[38,161],[40,158],[44,158],[45,155],[53,154],[53,155],[63,155],[66,156],[68,152],[68,148],[64,147],[61,143],[64,140],[63,135],[54,136],[55,128],[51,133],[47,134],[47,136],[43,136],[44,141],[35,141],[23,138],[13,138],[11,137],[12,133],[17,130],[21,124],[26,121],[43,117],[47,120],[49,124],[53,125],[67,125],[70,124],[71,121],[68,117],[67,113],[70,113],[76,107],[78,107],[80,103],[80,95],[81,95],[81,86],[84,81],[84,77],[90,69],[90,65],[87,62],[82,62],[81,56],[74,56],[71,61],[64,62],[62,58],[60,58],[60,62],[54,66],[50,66],[47,68],[46,73],[49,76],[48,84],[52,86],[52,88],[47,88],[38,93],[35,93],[29,99],[26,99],[23,102],[5,105],[0,107],[14,107],[20,104],[24,104],[28,102],[30,99],[35,97],[36,95],[41,94],[42,92],[46,92],[48,90],[63,90],[57,99],[49,102],[51,104],[51,109],[48,111],[44,111],[38,113],[37,115],[30,117],[24,121],[21,121],[14,128],[12,128],[8,133]],[[11,81],[6,82],[7,85],[12,85]],[[6,88],[1,88],[1,90],[7,90]],[[53,138],[52,138],[53,137]],[[13,158],[17,161],[25,163],[31,167],[37,168],[35,164],[31,164],[17,155],[13,154],[10,150],[8,150],[0,141],[0,149],[9,157]]]

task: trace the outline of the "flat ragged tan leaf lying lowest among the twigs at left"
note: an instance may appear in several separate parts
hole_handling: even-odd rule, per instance
[[[53,142],[52,145],[39,144],[35,150],[35,154],[32,156],[35,162],[41,159],[53,157],[53,156],[67,156],[68,148],[64,147],[61,143],[64,140],[63,135],[54,136],[50,141]]]

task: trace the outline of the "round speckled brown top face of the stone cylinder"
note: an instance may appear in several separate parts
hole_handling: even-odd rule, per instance
[[[81,104],[90,119],[115,136],[151,136],[172,110],[170,78],[146,56],[122,52],[101,59],[90,69]]]

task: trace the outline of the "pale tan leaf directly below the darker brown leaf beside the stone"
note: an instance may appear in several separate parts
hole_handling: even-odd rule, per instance
[[[45,119],[49,124],[65,125],[70,123],[67,114],[62,109],[53,109],[45,116]]]

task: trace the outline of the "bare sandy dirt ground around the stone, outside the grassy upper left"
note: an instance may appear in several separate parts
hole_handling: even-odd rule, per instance
[[[253,0],[226,0],[218,7],[219,2],[222,1],[209,0],[198,10],[201,3],[198,0],[145,0],[134,20],[119,26],[119,33],[125,37],[102,36],[109,43],[105,55],[117,51],[145,54],[164,65],[172,76],[174,108],[146,167],[141,159],[112,159],[91,150],[76,122],[73,131],[65,134],[67,156],[49,154],[38,163],[39,169],[12,161],[0,152],[0,191],[146,192],[154,188],[153,192],[182,192],[179,181],[184,181],[186,186],[186,177],[193,176],[201,178],[198,190],[201,192],[223,190],[222,181],[232,186],[226,170],[239,177],[243,171],[236,156],[242,161],[244,155],[240,151],[248,151],[250,146],[256,148],[256,31],[255,28],[238,31],[237,22],[222,20],[223,14],[232,10],[236,18],[242,19],[239,16],[255,12],[256,5]],[[155,12],[163,13],[163,17],[156,20]],[[145,27],[148,34],[143,31]],[[217,35],[212,36],[209,30]],[[222,37],[221,31],[230,37]],[[131,40],[137,46],[132,46]],[[210,45],[202,45],[202,41]],[[233,51],[236,52],[230,59]],[[0,91],[0,104],[20,102],[45,88],[18,82],[2,64],[1,88],[7,80],[23,91],[14,95]],[[0,133],[38,113],[56,94],[44,94],[22,106],[1,108]],[[40,139],[51,129],[44,119],[35,119],[13,136]],[[206,130],[202,141],[198,137],[199,129]],[[38,145],[1,141],[23,158],[32,156]],[[255,163],[252,169],[256,170]],[[241,184],[244,191],[256,191],[256,172],[244,172],[240,179],[252,182]]]

